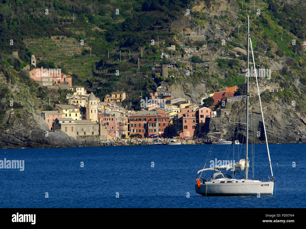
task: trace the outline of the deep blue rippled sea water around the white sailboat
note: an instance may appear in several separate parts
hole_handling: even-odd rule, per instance
[[[306,207],[305,144],[269,144],[276,190],[275,195],[260,198],[204,197],[195,192],[196,172],[203,168],[211,147],[211,160],[233,159],[233,145],[0,149],[0,160],[24,160],[24,171],[0,169],[0,207]],[[240,152],[236,150],[235,157]],[[244,157],[244,149],[241,152],[239,159]],[[248,158],[252,162],[252,155]],[[265,144],[255,144],[254,160],[255,179],[271,178]]]

